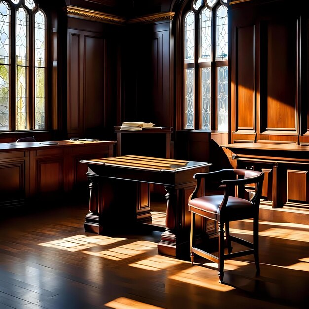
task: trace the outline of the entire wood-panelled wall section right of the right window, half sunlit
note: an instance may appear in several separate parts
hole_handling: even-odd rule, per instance
[[[231,142],[309,142],[308,13],[286,0],[239,1],[228,10]]]

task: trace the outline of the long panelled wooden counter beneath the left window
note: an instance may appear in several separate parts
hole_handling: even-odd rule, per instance
[[[62,196],[87,181],[82,159],[113,156],[116,141],[0,143],[0,208]],[[29,203],[30,206],[35,203]]]

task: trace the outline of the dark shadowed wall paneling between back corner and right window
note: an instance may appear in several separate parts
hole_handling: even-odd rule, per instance
[[[171,22],[139,24],[129,31],[132,50],[127,59],[138,59],[136,67],[126,70],[125,121],[153,122],[158,126],[173,124],[173,58]]]

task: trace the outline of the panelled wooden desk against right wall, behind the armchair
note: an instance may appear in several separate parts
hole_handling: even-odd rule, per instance
[[[237,168],[265,174],[261,204],[272,208],[309,208],[309,146],[285,141],[258,141],[224,145]]]

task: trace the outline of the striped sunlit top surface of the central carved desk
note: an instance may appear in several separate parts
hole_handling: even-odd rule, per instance
[[[139,170],[155,170],[177,172],[198,167],[210,166],[207,162],[162,159],[139,155],[125,155],[102,159],[82,160],[81,163],[112,166],[118,168],[132,168]]]

